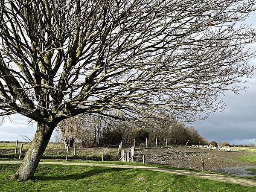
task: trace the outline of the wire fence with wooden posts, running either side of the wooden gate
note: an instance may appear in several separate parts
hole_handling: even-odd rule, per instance
[[[132,143],[134,146],[136,146],[137,150],[140,150],[141,148],[165,148],[167,147],[167,139],[165,143],[159,142],[156,140],[155,145],[150,145],[149,143],[136,143],[134,140],[134,143]],[[163,145],[165,144],[165,145]],[[25,148],[23,148],[23,145]],[[122,143],[120,144],[122,148]],[[119,147],[120,147],[119,145]],[[42,160],[92,160],[92,161],[119,161],[119,153],[118,148],[115,148],[118,146],[108,146],[108,147],[95,147],[95,148],[76,148],[76,145],[74,145],[74,148],[67,149],[60,149],[55,146],[51,146],[50,148],[47,148],[44,151],[43,156],[41,157]],[[126,148],[126,147],[125,147]],[[15,153],[16,151],[16,153]],[[18,141],[16,143],[10,144],[10,145],[1,145],[0,148],[0,158],[1,159],[23,159],[26,155],[26,152],[28,151],[28,144],[27,143],[21,143],[18,145]],[[20,153],[21,152],[21,153]],[[141,154],[140,154],[141,155]],[[145,159],[143,160],[142,157],[137,156],[136,154],[133,154],[133,161],[134,162],[145,162]]]

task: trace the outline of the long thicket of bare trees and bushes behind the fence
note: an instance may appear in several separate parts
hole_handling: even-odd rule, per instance
[[[116,114],[113,114],[115,116]],[[90,121],[88,122],[88,119]],[[169,122],[168,120],[165,122]],[[61,142],[65,147],[73,147],[74,142],[81,143],[82,148],[118,145],[155,145],[155,138],[159,145],[165,145],[166,139],[169,145],[197,145],[199,142],[204,145],[207,140],[202,137],[193,127],[187,127],[182,123],[172,124],[160,123],[151,126],[138,127],[131,122],[125,122],[105,116],[90,117],[79,116],[78,119],[65,119],[57,126],[57,134],[61,137]]]

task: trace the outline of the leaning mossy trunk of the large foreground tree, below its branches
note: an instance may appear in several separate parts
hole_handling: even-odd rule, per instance
[[[19,169],[12,175],[11,179],[29,180],[35,174],[35,170],[46,149],[54,127],[49,127],[40,122],[37,124],[37,131],[29,150],[26,152]]]

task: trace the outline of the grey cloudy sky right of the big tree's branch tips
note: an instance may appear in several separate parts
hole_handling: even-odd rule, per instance
[[[247,18],[246,23],[253,24],[256,29],[256,12]],[[252,51],[256,44],[249,45]],[[256,58],[249,61],[256,65]],[[226,104],[226,109],[221,113],[212,113],[204,121],[194,122],[192,125],[207,140],[228,141],[230,144],[256,144],[256,71],[252,79],[241,84],[249,87],[239,95],[226,92],[221,98]]]

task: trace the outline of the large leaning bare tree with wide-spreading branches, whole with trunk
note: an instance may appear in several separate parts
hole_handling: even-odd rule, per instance
[[[255,0],[1,0],[0,114],[37,122],[12,178],[28,180],[63,119],[148,112],[194,121],[251,77]],[[204,115],[202,115],[202,113]],[[201,116],[202,115],[202,116]],[[152,116],[158,118],[158,116]]]

